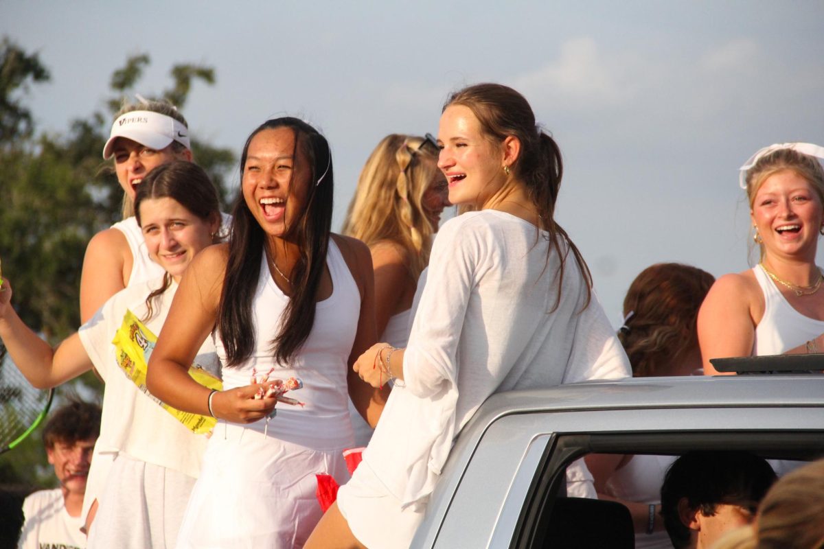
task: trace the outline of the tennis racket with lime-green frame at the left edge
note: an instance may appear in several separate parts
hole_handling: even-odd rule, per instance
[[[0,342],[0,454],[20,444],[49,413],[54,389],[34,388]]]

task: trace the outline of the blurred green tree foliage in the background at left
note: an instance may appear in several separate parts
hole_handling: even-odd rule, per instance
[[[21,319],[52,344],[79,326],[80,275],[88,240],[120,219],[123,193],[101,151],[113,115],[138,86],[149,63],[148,55],[138,54],[113,72],[104,102],[108,112],[75,119],[65,133],[37,135],[24,99],[29,82],[46,81],[49,72],[37,54],[26,54],[7,39],[0,44],[2,272],[12,283],[12,305]],[[171,86],[155,96],[180,107],[195,81],[213,84],[214,70],[178,64],[171,68],[171,80]],[[192,151],[226,203],[225,181],[236,162],[234,153],[197,139]],[[0,361],[5,354],[0,345]],[[67,391],[101,400],[101,384],[91,374],[59,389]],[[43,486],[44,475],[49,474],[37,434],[0,456],[0,484]]]

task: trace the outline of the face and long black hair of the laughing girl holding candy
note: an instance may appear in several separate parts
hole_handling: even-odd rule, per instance
[[[308,123],[292,117],[267,120],[246,139],[218,319],[227,365],[241,364],[254,347],[252,299],[262,260],[289,288],[280,332],[272,334],[275,358],[288,362],[309,337],[334,191],[329,143]],[[287,267],[293,255],[297,261]]]

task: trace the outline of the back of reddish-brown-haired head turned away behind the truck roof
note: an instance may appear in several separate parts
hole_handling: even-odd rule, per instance
[[[701,367],[698,309],[715,278],[681,263],[645,268],[624,298],[618,339],[635,377],[690,375]]]

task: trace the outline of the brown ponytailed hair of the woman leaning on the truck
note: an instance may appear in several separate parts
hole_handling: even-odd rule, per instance
[[[443,110],[450,105],[463,105],[471,109],[480,122],[480,127],[495,141],[503,142],[506,137],[513,136],[521,142],[521,152],[511,170],[526,186],[527,197],[541,216],[541,229],[547,232],[550,242],[549,253],[555,250],[560,261],[558,297],[553,310],[560,303],[564,263],[568,253],[562,243],[568,245],[574,254],[575,262],[578,263],[578,269],[586,283],[586,308],[592,298],[592,275],[578,247],[555,222],[555,202],[558,200],[561,178],[564,174],[558,143],[536,126],[535,114],[527,99],[511,87],[489,83],[468,86],[450,95],[443,105]]]

